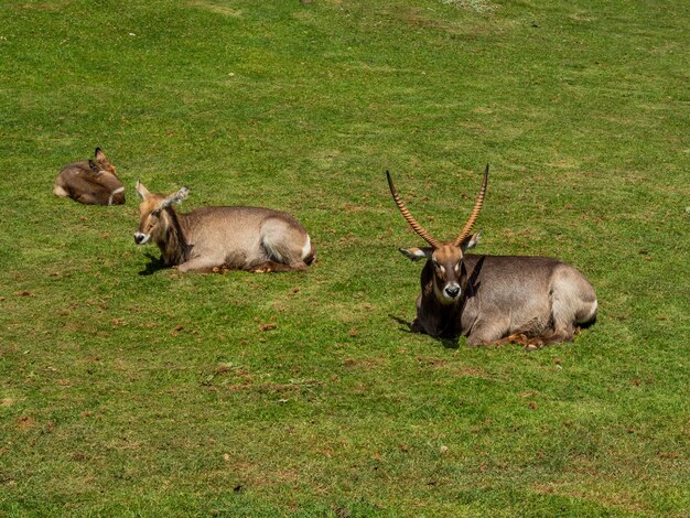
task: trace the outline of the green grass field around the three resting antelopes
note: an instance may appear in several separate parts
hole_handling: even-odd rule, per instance
[[[7,0],[0,514],[687,516],[682,1]],[[126,206],[58,199],[96,145]],[[557,256],[597,323],[535,353],[406,332],[416,217]],[[181,276],[181,209],[292,212],[306,273]],[[271,324],[271,325],[266,325]]]

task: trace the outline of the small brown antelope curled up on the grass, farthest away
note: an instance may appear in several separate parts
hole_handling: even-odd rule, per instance
[[[65,165],[55,179],[53,194],[86,205],[125,203],[125,185],[100,148],[96,148],[95,160]]]

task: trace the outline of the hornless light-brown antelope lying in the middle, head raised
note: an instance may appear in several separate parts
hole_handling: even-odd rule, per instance
[[[137,182],[141,219],[134,242],[155,242],[165,266],[181,272],[246,270],[302,271],[316,251],[306,230],[290,214],[263,207],[202,207],[175,212],[190,190],[154,194]]]

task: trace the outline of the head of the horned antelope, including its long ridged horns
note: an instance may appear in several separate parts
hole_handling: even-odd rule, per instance
[[[424,239],[428,247],[412,247],[400,248],[400,252],[412,261],[419,261],[420,259],[427,259],[427,267],[431,270],[431,277],[433,282],[433,292],[436,300],[441,304],[452,304],[459,301],[465,290],[467,289],[467,272],[464,265],[465,251],[474,248],[479,242],[479,236],[482,231],[472,234],[472,228],[479,216],[482,205],[484,204],[484,197],[486,195],[486,184],[488,181],[488,164],[486,164],[486,171],[484,172],[484,180],[482,182],[482,188],[477,194],[474,202],[474,208],[470,215],[470,219],[465,223],[460,235],[452,241],[439,241],[434,239],[422,227],[417,219],[410,214],[410,211],[405,206],[405,203],[398,195],[396,187],[390,179],[390,173],[386,171],[388,177],[388,186],[392,198],[398,205],[398,208],[402,213],[405,219],[410,224],[412,229]],[[423,279],[423,276],[422,276]]]

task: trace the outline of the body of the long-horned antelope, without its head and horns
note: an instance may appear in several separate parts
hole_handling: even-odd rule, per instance
[[[596,316],[596,294],[575,268],[558,259],[474,256],[461,260],[461,295],[441,301],[435,265],[421,274],[414,331],[439,337],[467,336],[467,344],[521,343],[528,348],[570,342],[578,324]]]

